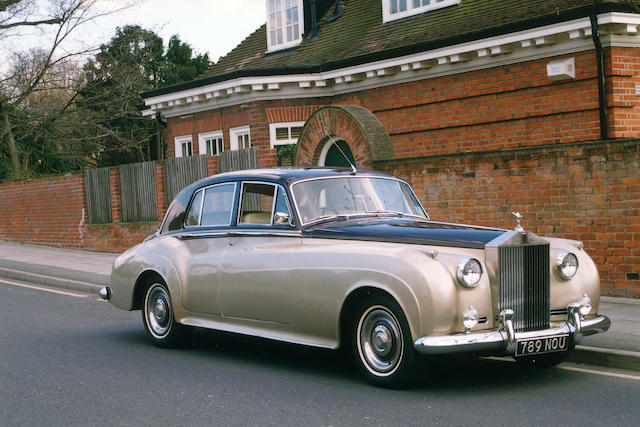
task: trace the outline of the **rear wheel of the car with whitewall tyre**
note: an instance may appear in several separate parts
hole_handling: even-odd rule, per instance
[[[179,347],[188,337],[190,328],[173,317],[171,296],[163,283],[147,288],[142,305],[142,322],[153,343],[159,347]]]

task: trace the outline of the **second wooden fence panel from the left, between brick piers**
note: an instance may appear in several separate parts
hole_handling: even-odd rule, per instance
[[[158,220],[155,165],[156,162],[143,162],[118,167],[123,222]]]

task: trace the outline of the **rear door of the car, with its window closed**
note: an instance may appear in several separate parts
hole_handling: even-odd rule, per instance
[[[220,272],[229,246],[235,183],[203,188],[192,197],[185,216],[180,242],[183,250],[175,256],[184,260],[183,306],[193,313],[220,315]]]

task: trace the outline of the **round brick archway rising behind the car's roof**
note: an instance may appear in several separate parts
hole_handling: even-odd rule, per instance
[[[374,161],[393,158],[389,135],[371,111],[357,105],[322,107],[302,128],[295,164],[345,166],[337,163],[344,159],[341,151],[359,168],[371,169]]]

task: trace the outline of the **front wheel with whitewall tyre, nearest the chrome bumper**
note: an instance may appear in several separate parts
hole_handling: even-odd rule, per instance
[[[369,382],[397,388],[415,379],[416,352],[409,325],[393,298],[380,295],[364,300],[351,332],[355,363]]]

